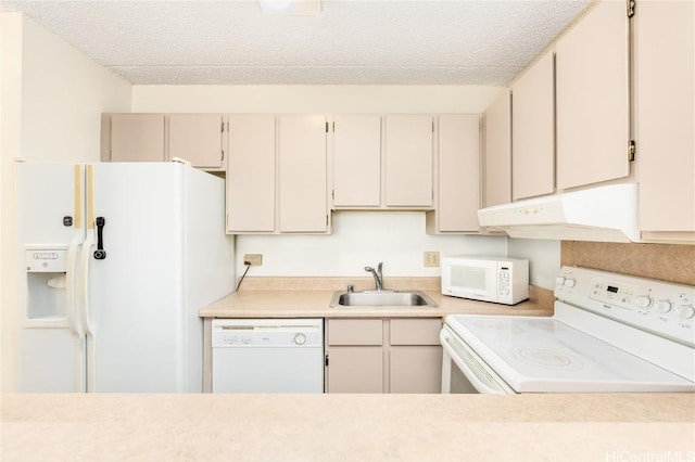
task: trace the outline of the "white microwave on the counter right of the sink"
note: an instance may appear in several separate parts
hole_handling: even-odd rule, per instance
[[[529,298],[529,260],[520,258],[442,258],[442,294],[516,305]]]

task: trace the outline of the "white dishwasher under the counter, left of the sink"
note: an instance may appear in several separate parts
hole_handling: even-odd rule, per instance
[[[324,393],[323,319],[214,319],[213,393]]]

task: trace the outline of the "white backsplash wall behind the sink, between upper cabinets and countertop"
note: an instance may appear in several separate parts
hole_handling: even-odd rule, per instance
[[[428,235],[422,211],[333,213],[331,235],[244,235],[237,238],[237,274],[244,254],[263,254],[249,275],[365,275],[364,267],[383,261],[386,277],[439,275],[425,268],[422,253],[505,255],[506,239]]]

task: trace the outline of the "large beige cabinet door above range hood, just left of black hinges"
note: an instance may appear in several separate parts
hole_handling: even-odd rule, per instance
[[[558,41],[558,189],[630,174],[628,56],[624,2],[598,3]]]

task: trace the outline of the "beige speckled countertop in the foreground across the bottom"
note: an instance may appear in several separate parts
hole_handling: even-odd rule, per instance
[[[694,394],[2,395],[4,461],[692,461]]]

